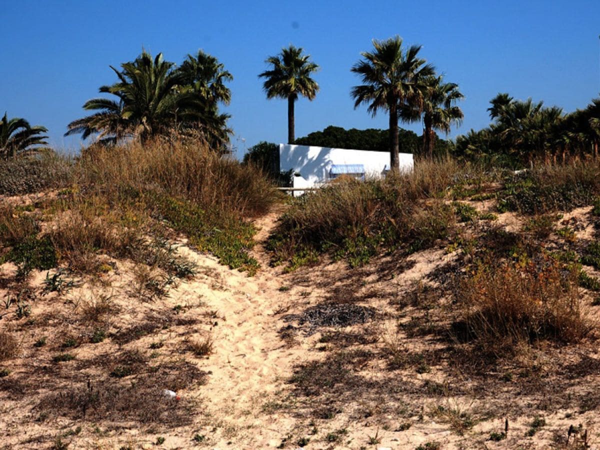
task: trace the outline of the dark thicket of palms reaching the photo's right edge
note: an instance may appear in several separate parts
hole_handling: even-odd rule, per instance
[[[559,107],[545,107],[531,98],[515,100],[498,94],[490,101],[489,127],[458,136],[457,155],[478,160],[504,160],[526,164],[534,158],[565,161],[583,154],[598,154],[600,98],[585,109],[565,114]]]

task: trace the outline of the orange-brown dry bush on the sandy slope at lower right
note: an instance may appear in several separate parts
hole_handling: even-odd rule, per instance
[[[539,256],[480,263],[459,284],[467,337],[486,353],[503,355],[542,339],[578,341],[589,331],[580,309],[578,268]]]

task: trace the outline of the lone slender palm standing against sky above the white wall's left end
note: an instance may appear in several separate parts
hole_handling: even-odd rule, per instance
[[[310,55],[302,55],[303,49],[290,45],[281,49],[276,56],[266,59],[272,65],[271,70],[259,74],[265,78],[263,89],[266,97],[287,98],[287,142],[293,143],[294,135],[294,103],[298,96],[313,100],[319,92],[319,85],[311,78],[311,74],[319,69],[310,61]]]

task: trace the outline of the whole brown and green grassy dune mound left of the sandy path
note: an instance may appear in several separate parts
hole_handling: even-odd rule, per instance
[[[56,256],[80,272],[99,269],[101,253],[144,262],[148,252],[140,248],[173,230],[232,268],[255,271],[248,218],[278,198],[259,170],[189,140],[93,146],[71,166],[70,179],[33,214],[0,211],[0,240],[14,247],[5,259],[24,274]]]

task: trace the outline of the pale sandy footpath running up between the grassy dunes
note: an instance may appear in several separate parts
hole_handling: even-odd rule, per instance
[[[260,231],[254,255],[263,268],[268,264],[264,240],[276,217],[278,213],[273,212],[257,223]],[[179,287],[179,302],[200,299],[208,311],[215,313],[210,330],[214,352],[201,367],[211,373],[202,388],[206,392],[203,408],[220,422],[224,440],[236,434],[237,439],[251,437],[257,448],[267,446],[273,431],[279,434],[282,430],[269,431],[271,427],[259,418],[260,410],[272,394],[284,388],[295,362],[305,357],[302,346],[290,349],[278,334],[282,322],[276,314],[289,302],[287,292],[278,287],[286,277],[275,269],[263,269],[248,277],[187,247],[182,247],[181,253],[197,263],[200,275]],[[206,429],[213,425],[208,421]],[[268,436],[262,436],[263,430]]]

